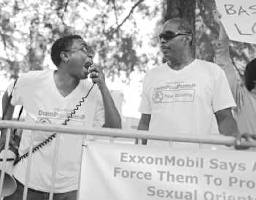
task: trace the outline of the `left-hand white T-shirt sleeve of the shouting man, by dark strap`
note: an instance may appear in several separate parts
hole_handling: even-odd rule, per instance
[[[24,78],[21,76],[17,79],[15,86],[15,80],[10,83],[7,88],[8,95],[12,92],[11,105],[23,105],[23,89],[24,89]]]

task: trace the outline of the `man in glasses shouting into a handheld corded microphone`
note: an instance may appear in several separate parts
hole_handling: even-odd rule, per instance
[[[13,111],[14,105],[23,105],[25,122],[121,128],[121,118],[106,86],[104,74],[100,66],[92,64],[93,56],[92,49],[81,36],[59,38],[51,49],[51,58],[57,69],[23,74],[15,86],[8,88],[3,102],[14,88],[10,109]],[[87,80],[89,72],[92,81]],[[11,119],[11,116],[8,118]],[[52,134],[35,132],[33,147],[38,149],[32,155],[27,200],[49,198],[56,143]],[[31,130],[23,130],[20,156],[26,155],[29,150],[30,138]],[[59,136],[54,200],[76,200],[82,140],[81,135]],[[27,163],[25,156],[14,166],[17,190],[5,200],[23,199]]]

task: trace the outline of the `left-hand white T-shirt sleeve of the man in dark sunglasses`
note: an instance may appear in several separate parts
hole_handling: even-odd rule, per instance
[[[143,114],[151,114],[151,102],[150,102],[150,85],[148,84],[148,77],[145,76],[143,87],[142,87],[142,95],[141,102],[139,106],[139,112]]]

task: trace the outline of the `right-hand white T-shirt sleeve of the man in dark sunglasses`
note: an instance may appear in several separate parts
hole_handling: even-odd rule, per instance
[[[236,107],[226,75],[219,66],[214,69],[212,104],[214,113]]]

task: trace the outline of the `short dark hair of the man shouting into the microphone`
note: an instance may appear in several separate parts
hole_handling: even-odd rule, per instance
[[[51,48],[51,59],[52,62],[58,67],[61,58],[60,53],[62,51],[67,51],[70,46],[72,46],[74,39],[83,39],[80,35],[68,35],[64,36],[62,38],[57,39]]]

